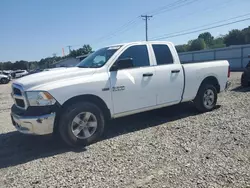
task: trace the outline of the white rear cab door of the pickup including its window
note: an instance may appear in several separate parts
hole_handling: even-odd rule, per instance
[[[179,103],[184,88],[184,73],[175,49],[167,44],[152,44],[152,51],[155,57],[157,105]]]

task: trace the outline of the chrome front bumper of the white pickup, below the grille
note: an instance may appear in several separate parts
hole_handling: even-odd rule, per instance
[[[53,133],[55,117],[55,113],[31,117],[11,113],[12,123],[19,132],[35,135]]]

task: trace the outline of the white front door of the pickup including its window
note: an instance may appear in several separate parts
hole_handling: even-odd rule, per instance
[[[156,105],[155,70],[147,45],[132,45],[119,59],[132,58],[133,67],[110,72],[114,113],[131,113]]]

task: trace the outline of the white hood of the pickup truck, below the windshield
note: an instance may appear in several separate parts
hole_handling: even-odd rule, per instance
[[[27,91],[32,90],[33,88],[39,88],[40,85],[47,85],[52,82],[59,82],[63,80],[67,82],[68,79],[72,79],[74,77],[92,75],[94,72],[95,69],[79,67],[62,68],[56,70],[52,69],[50,71],[44,71],[22,77],[17,79],[14,84],[21,85],[23,89]]]

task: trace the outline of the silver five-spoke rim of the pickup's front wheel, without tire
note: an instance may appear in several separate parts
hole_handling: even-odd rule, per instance
[[[97,129],[97,119],[91,112],[81,112],[72,121],[71,131],[79,139],[91,137]]]

